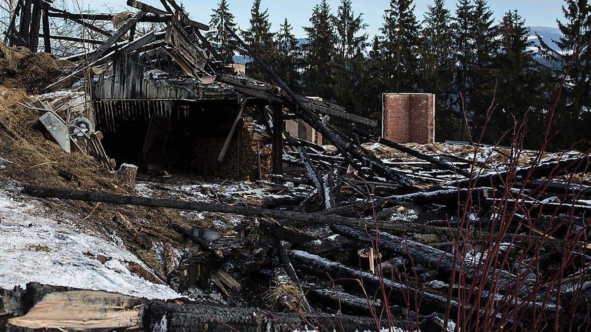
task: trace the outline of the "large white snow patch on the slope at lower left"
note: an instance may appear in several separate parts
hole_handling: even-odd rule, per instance
[[[170,299],[179,294],[165,285],[131,274],[127,263],[144,263],[128,252],[119,237],[105,240],[80,232],[64,216],[36,200],[18,197],[14,184],[0,184],[0,287],[27,282]],[[63,219],[63,220],[60,220]],[[98,255],[104,263],[97,258]]]

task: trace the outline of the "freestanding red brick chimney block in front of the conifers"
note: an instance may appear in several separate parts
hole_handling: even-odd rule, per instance
[[[397,143],[431,143],[435,139],[435,95],[384,93],[382,137]]]

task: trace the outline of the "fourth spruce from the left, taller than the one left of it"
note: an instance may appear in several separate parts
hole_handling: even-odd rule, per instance
[[[334,100],[337,37],[335,17],[326,0],[314,6],[310,26],[304,31],[308,39],[304,45],[304,91],[309,96]]]

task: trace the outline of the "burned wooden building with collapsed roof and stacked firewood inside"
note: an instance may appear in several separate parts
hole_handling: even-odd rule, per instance
[[[163,10],[129,0],[127,4],[138,11],[130,12],[116,31],[106,32],[108,38],[95,50],[70,57],[77,64],[46,89],[53,92],[74,82],[86,84],[95,128],[102,133],[106,153],[117,164],[138,164],[152,171],[260,178],[271,171],[282,172],[284,162],[290,162],[289,156],[284,158],[286,151],[296,155],[306,153],[302,147],[309,152],[322,151],[318,144],[294,135],[307,132],[311,141],[319,142],[322,136],[324,142],[335,145],[356,170],[378,170],[386,178],[399,178],[332,126],[327,116],[366,128],[378,126],[375,120],[295,95],[278,77],[278,86],[249,79],[221,61],[202,34],[209,30],[207,25],[191,20],[174,1],[165,3],[170,5]],[[37,48],[34,41],[44,38],[46,51],[51,51],[52,38],[72,38],[38,34],[40,22],[45,31],[49,17],[72,19],[100,30],[84,20],[89,17],[53,8],[45,0],[25,0],[18,6],[22,12],[19,31],[12,19],[7,32],[14,45]],[[89,15],[95,20],[114,17]],[[142,22],[160,22],[165,28],[137,35]],[[305,128],[287,131],[286,120],[295,120]],[[301,165],[300,158],[296,159],[291,161]]]

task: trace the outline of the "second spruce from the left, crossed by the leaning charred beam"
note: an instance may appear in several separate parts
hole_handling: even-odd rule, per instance
[[[251,50],[262,58],[266,63],[274,65],[275,62],[275,34],[271,32],[268,9],[261,11],[261,0],[255,0],[251,8],[250,27],[242,31],[242,37]],[[245,54],[248,55],[248,54]],[[271,77],[256,61],[246,64],[248,76],[269,81]]]

